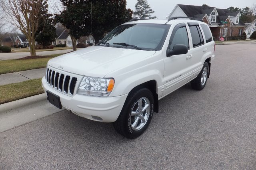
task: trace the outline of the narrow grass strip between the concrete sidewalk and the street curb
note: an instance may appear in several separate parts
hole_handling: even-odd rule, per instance
[[[0,86],[0,104],[44,93],[41,79]]]

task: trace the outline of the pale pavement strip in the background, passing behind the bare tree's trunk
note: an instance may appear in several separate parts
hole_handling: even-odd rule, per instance
[[[61,53],[68,53],[70,51],[73,51],[73,49],[61,49],[61,50],[54,50],[54,51],[37,51],[36,55],[61,54]],[[0,53],[0,60],[18,59],[18,58],[23,58],[29,55],[30,55],[30,52]]]

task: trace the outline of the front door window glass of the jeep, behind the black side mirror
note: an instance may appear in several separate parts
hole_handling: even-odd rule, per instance
[[[173,49],[173,46],[175,44],[184,44],[189,48],[188,32],[187,32],[186,27],[181,27],[176,31],[174,38],[172,39],[170,49]]]

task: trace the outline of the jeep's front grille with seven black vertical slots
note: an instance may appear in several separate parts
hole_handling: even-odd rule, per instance
[[[53,69],[47,68],[46,81],[52,88],[66,94],[73,95],[77,78],[70,77],[70,75],[65,75],[63,73],[54,71]]]

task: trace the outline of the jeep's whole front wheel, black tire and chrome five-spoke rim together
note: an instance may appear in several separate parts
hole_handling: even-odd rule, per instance
[[[131,91],[118,119],[113,123],[114,128],[127,138],[136,138],[150,124],[153,111],[154,97],[149,89],[141,88]]]

